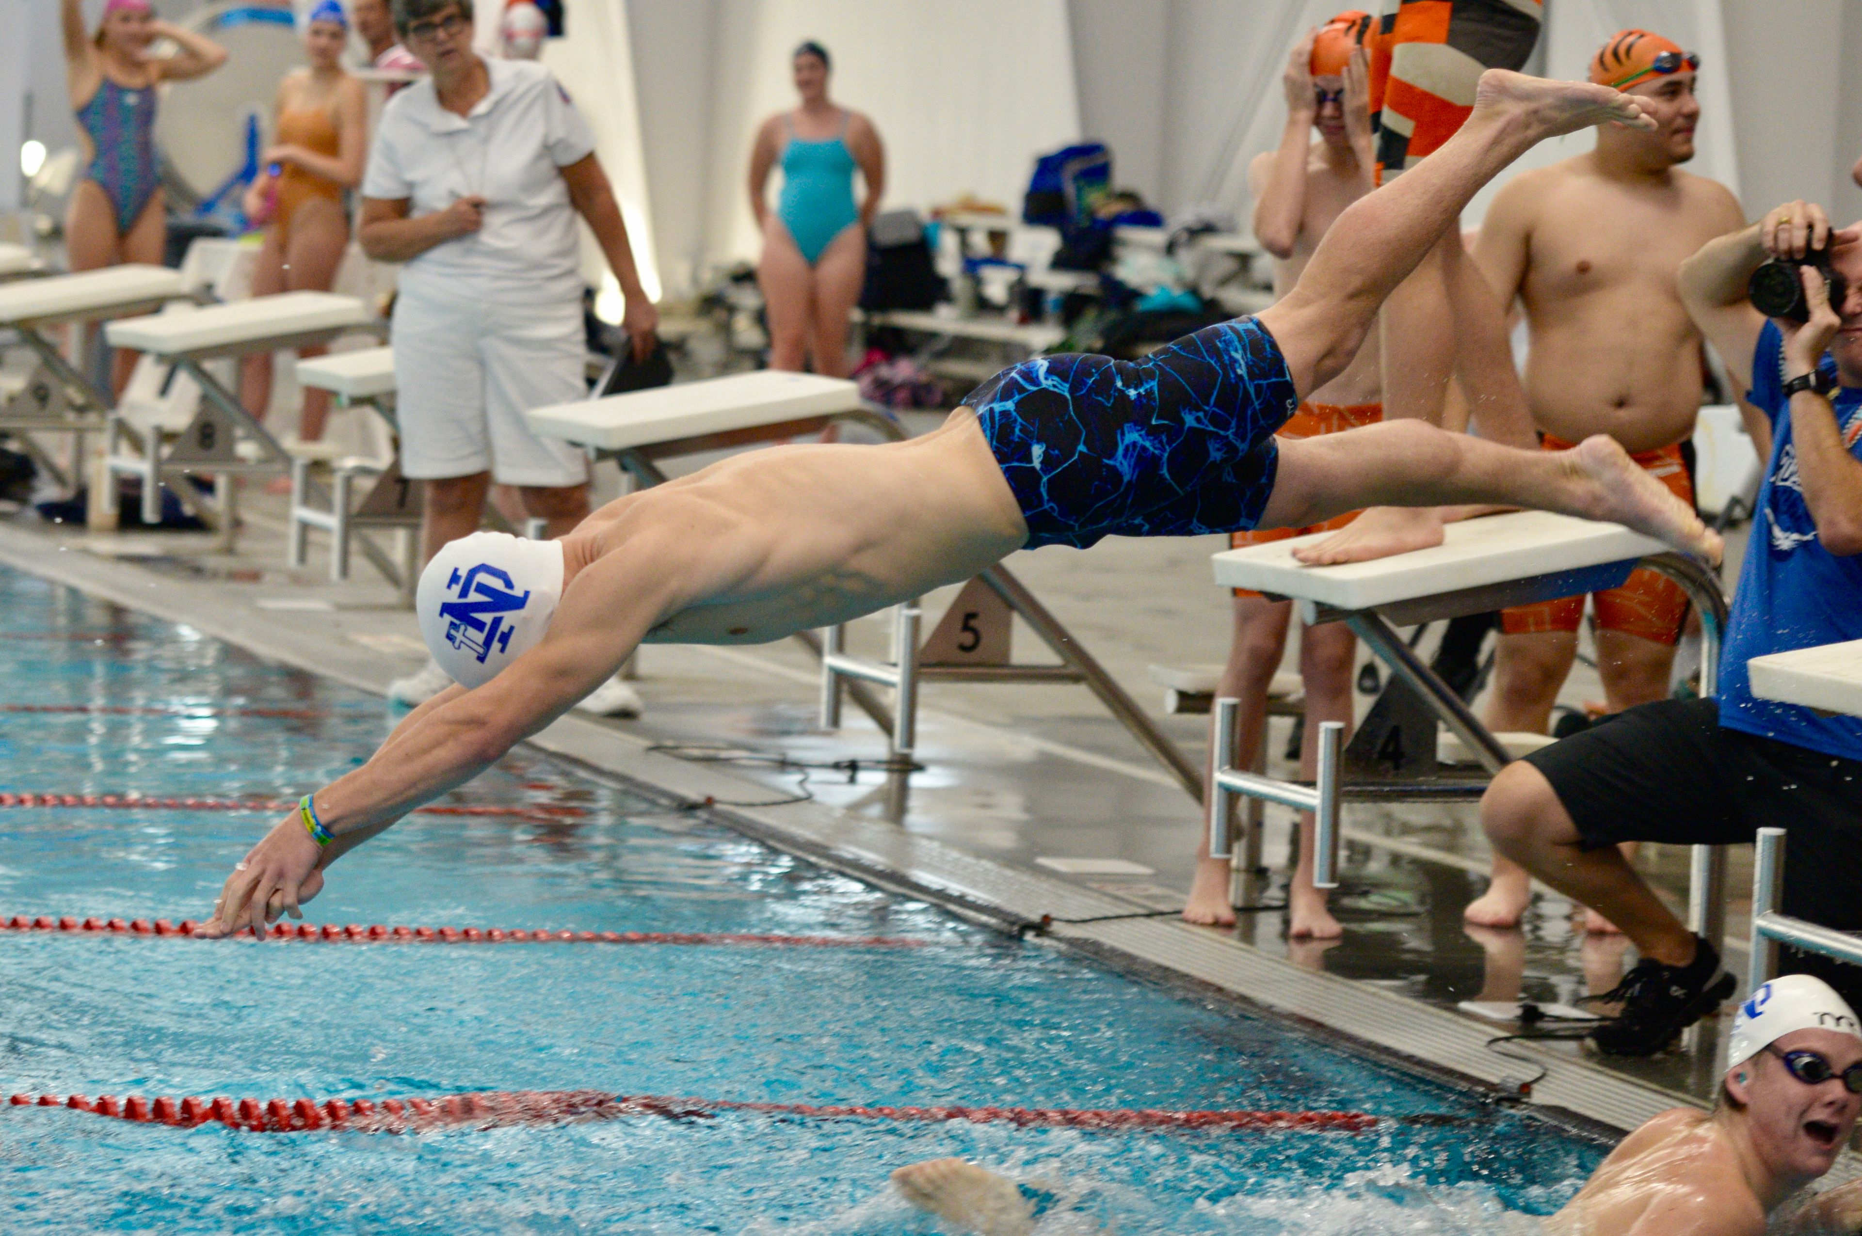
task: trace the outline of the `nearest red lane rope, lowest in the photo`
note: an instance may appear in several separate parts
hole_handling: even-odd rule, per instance
[[[713,1098],[670,1098],[665,1095],[609,1095],[605,1091],[480,1091],[436,1098],[369,1098],[315,1102],[309,1098],[114,1098],[99,1095],[13,1095],[15,1108],[71,1108],[138,1124],[196,1128],[225,1124],[253,1134],[296,1134],[315,1128],[341,1128],[365,1134],[406,1134],[430,1128],[510,1124],[560,1124],[566,1121],[613,1121],[620,1117],[661,1117],[670,1121],[709,1119],[726,1111],[810,1117],[823,1121],[963,1121],[970,1124],[1015,1124],[1019,1128],[1095,1128],[1095,1130],[1186,1130],[1231,1132],[1296,1130],[1363,1134],[1380,1124],[1402,1124],[1406,1117],[1378,1117],[1367,1111],[1166,1111],[1166,1109],[1082,1109],[1082,1108],[857,1108],[817,1104],[758,1104]],[[1437,1122],[1423,1119],[1423,1122]]]

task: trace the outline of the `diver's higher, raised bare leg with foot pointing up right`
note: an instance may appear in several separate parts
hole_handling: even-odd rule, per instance
[[[1460,132],[1391,184],[1354,201],[1292,290],[1261,313],[1300,396],[1331,382],[1357,356],[1378,305],[1482,184],[1545,138],[1605,121],[1652,127],[1633,95],[1504,69],[1484,73]]]

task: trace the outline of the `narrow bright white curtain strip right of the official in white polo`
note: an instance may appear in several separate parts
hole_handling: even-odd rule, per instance
[[[486,20],[497,6],[480,4]],[[641,158],[641,108],[633,89],[633,45],[627,37],[627,0],[585,0],[568,13],[568,37],[544,43],[542,61],[594,128],[596,156],[614,184],[633,261],[641,268],[646,294],[659,298],[659,268],[654,259],[654,212],[646,195],[646,162]],[[607,259],[583,227],[583,275],[603,289],[596,311],[620,318],[620,287],[607,272]]]

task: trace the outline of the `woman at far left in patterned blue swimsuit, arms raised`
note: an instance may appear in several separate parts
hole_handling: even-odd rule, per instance
[[[119,262],[162,262],[168,240],[160,168],[155,154],[155,93],[225,63],[225,48],[156,20],[149,0],[108,0],[93,37],[78,0],[63,0],[65,86],[91,162],[71,190],[65,253],[71,270]],[[173,39],[181,50],[153,58],[149,45]],[[136,356],[115,359],[121,391]]]

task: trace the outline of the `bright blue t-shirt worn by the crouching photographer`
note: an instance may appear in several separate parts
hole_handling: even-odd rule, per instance
[[[1795,743],[1827,756],[1862,759],[1862,717],[1817,717],[1808,707],[1754,700],[1745,663],[1773,652],[1862,638],[1862,555],[1840,558],[1817,540],[1817,525],[1797,480],[1789,400],[1784,396],[1784,335],[1765,322],[1752,350],[1747,398],[1771,417],[1771,467],[1758,491],[1734,612],[1720,655],[1720,724]],[[1825,356],[1823,370],[1836,376]],[[1832,400],[1843,445],[1862,460],[1862,389]]]

